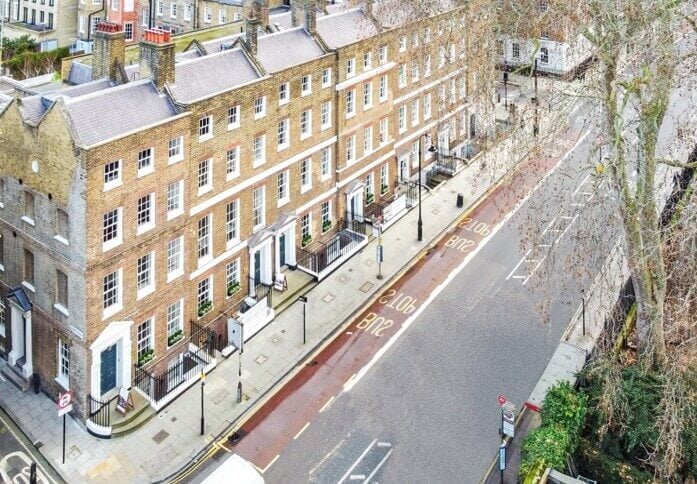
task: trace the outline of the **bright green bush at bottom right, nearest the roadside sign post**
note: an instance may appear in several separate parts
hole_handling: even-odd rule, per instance
[[[533,430],[521,447],[520,476],[524,478],[536,469],[544,472],[547,467],[564,472],[570,443],[569,433],[560,426],[549,425]]]

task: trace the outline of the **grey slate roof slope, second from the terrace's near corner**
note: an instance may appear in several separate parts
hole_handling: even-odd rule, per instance
[[[178,102],[189,103],[259,77],[242,49],[235,48],[178,63],[170,89]]]

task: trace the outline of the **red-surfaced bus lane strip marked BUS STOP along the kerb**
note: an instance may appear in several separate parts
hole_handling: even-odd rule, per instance
[[[262,470],[273,464],[578,139],[577,132],[568,132],[557,145],[561,155],[524,161],[485,200],[460,217],[431,250],[241,426],[242,438],[234,452]]]

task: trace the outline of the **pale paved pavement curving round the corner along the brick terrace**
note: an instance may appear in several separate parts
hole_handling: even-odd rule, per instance
[[[542,126],[544,130],[544,119]],[[416,240],[417,210],[409,211],[385,231],[383,279],[376,278],[377,240],[373,239],[317,284],[306,295],[306,344],[302,342],[302,306],[295,303],[245,346],[241,377],[237,354],[229,358],[232,361],[219,362],[206,378],[205,435],[200,435],[198,384],[136,432],[123,437],[97,439],[81,422],[69,418],[65,464],[61,463],[62,422],[55,402],[43,394],[22,393],[0,380],[0,405],[67,482],[167,479],[200,458],[212,442],[239,427],[362,307],[399,278],[454,220],[495,187],[532,146],[532,136],[529,129],[526,131],[481,153],[446,184],[426,194],[422,204],[424,241]],[[462,208],[456,206],[458,193],[464,197]],[[240,404],[236,398],[238,381],[243,389]]]

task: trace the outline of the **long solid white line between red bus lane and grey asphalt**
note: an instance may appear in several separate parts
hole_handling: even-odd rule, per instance
[[[453,279],[455,279],[455,277],[456,277],[460,272],[462,272],[462,271],[464,270],[465,267],[467,267],[467,264],[469,264],[470,261],[479,253],[479,251],[482,250],[482,248],[484,248],[484,247],[486,246],[486,244],[494,237],[494,235],[496,235],[496,234],[499,232],[499,230],[501,230],[501,228],[508,222],[508,220],[510,220],[510,218],[513,217],[513,215],[515,215],[516,212],[518,212],[518,210],[520,210],[520,208],[525,204],[525,202],[527,202],[528,199],[529,199],[530,197],[532,197],[532,195],[533,195],[537,190],[540,189],[540,187],[547,181],[547,179],[548,179],[550,176],[552,176],[552,174],[554,174],[554,172],[557,170],[557,168],[559,168],[559,167],[561,166],[561,164],[562,164],[564,161],[566,161],[566,159],[571,155],[571,153],[573,153],[574,151],[576,151],[576,148],[577,148],[581,143],[583,143],[583,142],[586,140],[586,138],[588,138],[588,135],[589,135],[589,134],[590,134],[590,131],[586,131],[586,133],[585,133],[583,136],[581,136],[581,137],[576,141],[576,143],[574,144],[574,146],[572,146],[571,149],[569,149],[569,151],[567,151],[566,154],[565,154],[563,157],[561,157],[561,158],[559,159],[559,161],[557,162],[557,164],[554,165],[554,166],[552,167],[552,169],[549,170],[545,176],[543,176],[542,178],[540,178],[540,181],[537,182],[537,184],[532,188],[532,190],[529,191],[528,194],[525,195],[525,196],[513,207],[513,209],[512,209],[510,212],[508,212],[508,213],[503,217],[503,219],[491,230],[491,232],[489,233],[489,235],[487,235],[486,237],[484,237],[484,238],[481,240],[481,242],[479,243],[479,245],[478,245],[477,247],[475,247],[475,249],[474,249],[472,252],[470,252],[469,254],[467,254],[467,256],[464,258],[464,260],[463,260],[455,269],[453,269],[453,270],[450,272],[450,274],[448,274],[448,275],[446,276],[445,280],[444,280],[443,282],[441,282],[441,283],[433,290],[433,292],[431,292],[431,294],[428,296],[428,298],[426,298],[426,300],[423,302],[423,304],[421,304],[421,305],[416,309],[416,311],[414,311],[414,312],[412,313],[412,315],[409,316],[409,317],[404,321],[404,323],[402,324],[402,327],[399,328],[399,329],[397,330],[397,332],[396,332],[395,334],[392,335],[392,337],[389,339],[389,341],[387,341],[387,343],[385,343],[385,345],[382,346],[382,347],[373,355],[373,357],[370,359],[370,361],[369,361],[368,363],[366,363],[366,364],[363,366],[363,368],[361,368],[361,370],[356,374],[356,378],[352,378],[351,380],[349,380],[348,382],[346,382],[346,384],[344,385],[344,391],[345,391],[345,392],[351,391],[351,389],[356,385],[356,383],[358,383],[358,382],[361,380],[361,378],[363,378],[363,377],[365,376],[365,374],[368,373],[368,371],[373,367],[373,365],[375,365],[375,363],[377,363],[378,360],[379,360],[380,358],[382,358],[382,356],[387,352],[387,350],[389,350],[389,349],[392,347],[392,345],[400,338],[400,336],[402,336],[402,335],[407,331],[407,329],[409,329],[409,326],[411,326],[411,324],[416,320],[416,318],[418,318],[418,317],[421,315],[421,313],[433,302],[433,300],[443,291],[443,289],[445,289],[445,287],[446,287],[448,284],[450,284],[450,283],[453,281]]]

